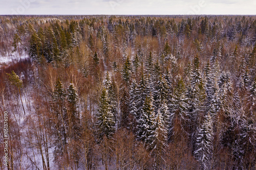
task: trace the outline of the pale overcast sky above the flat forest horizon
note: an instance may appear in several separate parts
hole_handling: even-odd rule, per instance
[[[256,15],[256,0],[0,0],[0,15]]]

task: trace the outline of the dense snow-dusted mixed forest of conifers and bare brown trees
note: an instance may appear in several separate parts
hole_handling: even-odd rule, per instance
[[[0,16],[0,53],[8,169],[256,169],[255,16]]]

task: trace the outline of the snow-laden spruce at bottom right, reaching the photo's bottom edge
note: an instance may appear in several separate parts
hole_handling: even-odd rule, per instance
[[[213,129],[211,116],[208,113],[205,116],[204,122],[199,129],[197,134],[196,151],[194,152],[197,160],[200,162],[201,169],[212,168],[212,140],[213,140]]]

